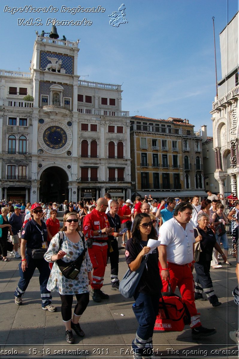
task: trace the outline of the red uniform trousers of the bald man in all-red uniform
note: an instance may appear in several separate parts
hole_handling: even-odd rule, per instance
[[[89,257],[93,267],[92,289],[101,289],[103,285],[105,267],[107,265],[107,250],[107,242],[95,243],[92,245],[92,248],[88,248]]]

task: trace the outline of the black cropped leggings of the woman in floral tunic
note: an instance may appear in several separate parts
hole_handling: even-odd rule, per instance
[[[61,316],[64,322],[68,322],[72,318],[72,303],[73,294],[62,295],[61,297]],[[74,314],[80,316],[86,310],[89,303],[89,292],[82,294],[75,294],[77,304],[74,309]]]

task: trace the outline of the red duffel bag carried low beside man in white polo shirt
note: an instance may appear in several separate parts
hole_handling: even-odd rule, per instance
[[[191,322],[187,306],[177,294],[170,292],[161,294],[154,330],[181,332],[184,326]]]

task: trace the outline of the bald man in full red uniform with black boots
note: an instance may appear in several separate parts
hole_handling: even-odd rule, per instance
[[[96,208],[85,216],[83,222],[83,232],[93,266],[91,295],[94,302],[97,303],[100,303],[101,299],[109,298],[108,294],[101,291],[107,265],[107,239],[110,232],[110,224],[105,214],[107,207],[108,201],[105,198],[99,198]]]

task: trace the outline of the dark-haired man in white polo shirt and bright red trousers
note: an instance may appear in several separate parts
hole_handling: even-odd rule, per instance
[[[162,278],[162,292],[168,292],[168,281],[174,292],[178,286],[181,297],[187,305],[192,328],[192,338],[198,339],[216,333],[216,329],[204,328],[200,322],[200,314],[194,302],[193,247],[194,231],[189,223],[192,218],[192,205],[181,202],[174,212],[174,218],[161,225],[158,240],[160,241],[159,260]],[[200,241],[202,238],[196,238]]]

